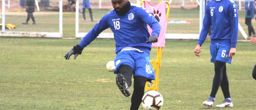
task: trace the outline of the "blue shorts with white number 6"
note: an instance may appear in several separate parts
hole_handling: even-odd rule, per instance
[[[229,43],[211,43],[210,46],[210,54],[211,54],[211,62],[215,63],[216,60],[230,63],[231,58],[228,58],[229,50],[231,45]]]

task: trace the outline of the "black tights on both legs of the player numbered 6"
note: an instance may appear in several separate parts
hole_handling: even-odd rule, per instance
[[[211,97],[215,97],[219,86],[225,98],[230,98],[228,76],[226,72],[226,63],[216,60],[214,64],[215,75],[212,82]]]

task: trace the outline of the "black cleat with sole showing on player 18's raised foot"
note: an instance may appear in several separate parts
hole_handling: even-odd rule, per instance
[[[131,95],[131,92],[129,90],[129,87],[125,81],[125,78],[122,74],[117,74],[115,77],[116,85],[120,89],[120,91],[124,94],[124,96],[129,97]]]

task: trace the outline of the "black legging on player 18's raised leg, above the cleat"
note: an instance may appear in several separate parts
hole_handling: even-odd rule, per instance
[[[132,67],[130,65],[123,64],[118,68],[117,72],[124,76],[127,85],[130,87],[132,85]]]

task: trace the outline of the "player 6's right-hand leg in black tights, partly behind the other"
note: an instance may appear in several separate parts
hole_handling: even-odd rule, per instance
[[[228,75],[227,75],[227,71],[226,71],[226,63],[224,65],[223,78],[222,78],[222,82],[220,84],[220,87],[221,87],[221,90],[223,92],[224,98],[230,98]]]

